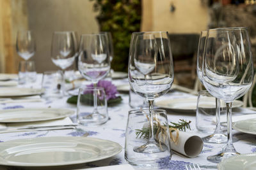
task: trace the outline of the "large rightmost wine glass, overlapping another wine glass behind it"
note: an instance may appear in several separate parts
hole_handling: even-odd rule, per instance
[[[208,31],[203,78],[205,89],[227,105],[227,144],[218,155],[207,157],[211,162],[220,162],[239,154],[232,143],[232,101],[246,94],[253,81],[252,49],[246,28]]]

